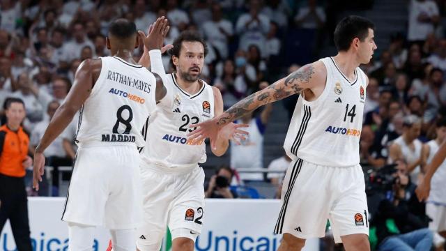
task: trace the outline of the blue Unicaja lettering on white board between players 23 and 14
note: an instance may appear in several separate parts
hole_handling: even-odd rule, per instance
[[[249,236],[239,235],[234,230],[229,235],[217,235],[213,231],[201,233],[195,242],[195,250],[240,250],[260,251],[277,250],[280,244],[280,235],[275,236]]]

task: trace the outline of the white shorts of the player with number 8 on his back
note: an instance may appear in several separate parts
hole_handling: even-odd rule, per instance
[[[79,147],[62,220],[108,229],[140,225],[139,159],[134,145]]]

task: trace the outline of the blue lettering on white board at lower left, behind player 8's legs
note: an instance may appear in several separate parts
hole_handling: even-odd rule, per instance
[[[0,238],[0,248],[4,251],[15,251],[17,247],[13,244],[14,238],[12,234],[2,234]],[[33,251],[55,250],[68,251],[68,238],[56,238],[54,236],[46,236],[44,232],[40,233],[37,238],[31,238],[31,245]],[[93,242],[93,251],[104,250],[105,247],[100,247],[98,240]]]

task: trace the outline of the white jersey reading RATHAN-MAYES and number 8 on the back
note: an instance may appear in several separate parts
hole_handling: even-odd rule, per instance
[[[144,146],[141,130],[156,107],[155,77],[116,56],[101,61],[98,80],[79,111],[76,142]]]

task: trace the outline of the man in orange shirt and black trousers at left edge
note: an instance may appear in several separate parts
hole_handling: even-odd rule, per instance
[[[25,169],[33,165],[28,155],[29,137],[20,124],[25,118],[24,102],[6,101],[6,125],[0,127],[0,232],[10,220],[17,250],[31,251]]]

